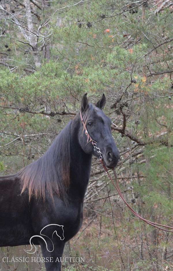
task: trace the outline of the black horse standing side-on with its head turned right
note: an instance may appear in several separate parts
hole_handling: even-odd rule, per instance
[[[102,109],[105,95],[95,104],[82,98],[81,112],[86,128],[97,142],[106,166],[113,168],[119,160],[119,151],[111,135],[111,120]],[[32,236],[40,235],[44,228],[48,251],[42,238],[33,238],[39,244],[43,257],[53,257],[46,270],[60,271],[65,242],[80,229],[83,202],[89,182],[92,155],[99,157],[91,142],[86,144],[80,113],[59,133],[46,153],[18,173],[0,177],[0,246],[30,244]],[[57,225],[63,225],[57,233]],[[46,232],[47,231],[47,232]],[[54,233],[54,234],[53,234]],[[46,237],[45,237],[46,238]],[[51,240],[50,240],[51,239]],[[50,243],[49,243],[50,240]]]

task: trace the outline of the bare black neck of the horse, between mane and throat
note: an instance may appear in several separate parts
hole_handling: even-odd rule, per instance
[[[76,197],[84,198],[89,182],[92,154],[86,154],[82,150],[78,140],[80,120],[71,126],[70,136],[70,188],[69,191]]]

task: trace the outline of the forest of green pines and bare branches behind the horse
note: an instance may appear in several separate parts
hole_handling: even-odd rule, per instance
[[[92,103],[105,93],[121,191],[143,217],[172,226],[172,13],[170,0],[1,0],[0,174],[42,156],[84,93]],[[133,217],[93,158],[83,225],[65,251],[85,263],[63,270],[173,270],[172,241]],[[1,248],[0,258],[21,251]],[[0,261],[0,270],[44,265]]]

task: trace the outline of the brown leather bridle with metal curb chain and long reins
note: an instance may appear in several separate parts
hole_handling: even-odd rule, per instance
[[[146,222],[147,224],[153,226],[153,227],[156,227],[158,229],[161,229],[163,231],[166,231],[166,232],[173,232],[173,227],[169,227],[169,226],[166,226],[166,225],[163,225],[163,224],[159,224],[159,223],[155,223],[155,222],[152,222],[152,221],[149,221],[143,217],[141,217],[135,210],[133,210],[133,208],[128,204],[128,202],[125,200],[123,194],[121,193],[121,190],[119,188],[119,184],[118,184],[118,181],[117,181],[117,178],[116,178],[116,172],[115,172],[115,169],[112,168],[113,172],[114,172],[114,177],[115,177],[115,183],[114,183],[114,180],[112,179],[111,175],[109,174],[108,172],[108,169],[106,168],[106,165],[104,163],[104,159],[103,159],[103,155],[100,151],[100,149],[97,147],[97,142],[94,141],[91,136],[89,135],[87,129],[86,129],[86,125],[83,121],[83,118],[82,118],[82,112],[80,111],[80,118],[81,118],[81,121],[82,121],[82,125],[84,127],[84,130],[85,130],[85,134],[87,136],[87,143],[90,143],[93,145],[94,147],[94,151],[97,151],[97,153],[99,153],[100,157],[99,157],[99,160],[100,160],[100,163],[102,165],[102,167],[104,168],[104,171],[108,174],[108,177],[110,178],[112,184],[114,185],[114,187],[116,188],[116,190],[118,191],[121,199],[123,200],[123,202],[127,205],[127,207],[131,210],[131,212],[136,216],[138,217],[139,219],[143,220],[144,222]],[[160,227],[159,227],[160,226]],[[168,229],[172,229],[172,230],[168,230],[168,229],[163,229],[162,227],[165,227],[165,228],[168,228]]]

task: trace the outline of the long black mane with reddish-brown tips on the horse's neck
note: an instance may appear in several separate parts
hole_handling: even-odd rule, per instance
[[[32,195],[45,200],[48,192],[53,198],[57,194],[65,198],[70,183],[70,128],[72,121],[57,135],[46,153],[18,172],[23,193],[28,189]]]

